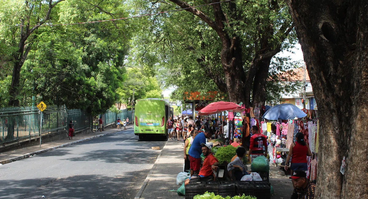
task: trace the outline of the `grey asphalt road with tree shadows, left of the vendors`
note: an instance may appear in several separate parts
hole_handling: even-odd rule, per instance
[[[165,141],[125,130],[0,166],[0,198],[134,198]]]

